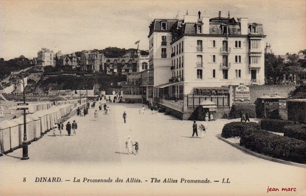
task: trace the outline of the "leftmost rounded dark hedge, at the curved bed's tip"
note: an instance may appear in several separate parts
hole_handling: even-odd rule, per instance
[[[245,131],[254,128],[260,131],[260,125],[256,122],[230,122],[224,125],[221,136],[224,138],[241,137]]]

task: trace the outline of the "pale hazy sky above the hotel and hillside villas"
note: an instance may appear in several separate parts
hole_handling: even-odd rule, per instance
[[[149,49],[155,18],[247,17],[263,24],[274,54],[306,49],[305,0],[0,0],[0,57],[32,59],[41,48],[73,53],[107,47]]]

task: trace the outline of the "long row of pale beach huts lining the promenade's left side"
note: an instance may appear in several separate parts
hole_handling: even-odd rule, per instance
[[[26,133],[29,142],[37,141],[54,128],[55,123],[76,115],[77,107],[84,108],[86,98],[53,103],[29,104],[26,115]],[[24,116],[0,122],[0,154],[22,147]]]

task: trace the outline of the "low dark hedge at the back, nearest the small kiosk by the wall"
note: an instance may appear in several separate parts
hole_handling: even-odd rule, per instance
[[[262,119],[260,121],[260,127],[263,130],[273,131],[273,132],[284,132],[284,127],[287,125],[298,125],[299,122],[287,121],[287,120],[277,120],[277,119]]]

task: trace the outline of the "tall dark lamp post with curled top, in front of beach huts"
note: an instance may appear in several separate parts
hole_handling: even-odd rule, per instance
[[[22,141],[22,158],[21,160],[26,160],[29,159],[28,157],[28,145],[29,142],[27,140],[27,121],[26,121],[26,103],[25,103],[25,92],[24,92],[24,78],[22,77],[22,75],[20,74],[13,74],[11,75],[11,77],[9,78],[9,82],[12,83],[15,86],[20,86],[21,83],[23,85],[23,126],[24,126],[24,133],[23,133],[23,141]]]

